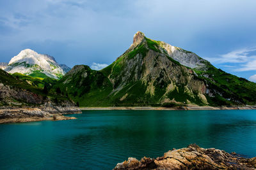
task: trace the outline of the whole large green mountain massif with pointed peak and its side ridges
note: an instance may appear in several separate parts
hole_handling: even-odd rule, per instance
[[[134,35],[133,43],[100,71],[75,66],[60,88],[80,106],[230,106],[255,104],[256,83],[225,73],[193,52]]]

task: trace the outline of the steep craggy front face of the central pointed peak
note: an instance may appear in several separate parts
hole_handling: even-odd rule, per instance
[[[113,83],[113,94],[123,95],[120,103],[207,104],[205,82],[173,56],[159,41],[137,32],[131,47],[102,73]]]

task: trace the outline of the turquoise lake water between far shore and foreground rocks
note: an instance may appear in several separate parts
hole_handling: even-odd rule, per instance
[[[112,169],[196,143],[256,156],[256,111],[83,111],[0,125],[0,169]]]

